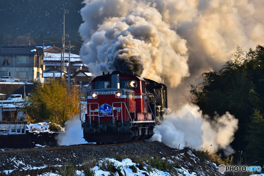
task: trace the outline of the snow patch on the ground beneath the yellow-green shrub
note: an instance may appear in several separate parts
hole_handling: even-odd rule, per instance
[[[48,122],[29,124],[29,125],[27,125],[27,130],[29,130],[30,133],[37,133],[37,134],[39,134],[40,132],[56,133],[56,132],[49,130],[50,125],[51,124]],[[61,129],[61,131],[65,131],[65,128],[63,128],[61,126],[60,126],[60,129]]]

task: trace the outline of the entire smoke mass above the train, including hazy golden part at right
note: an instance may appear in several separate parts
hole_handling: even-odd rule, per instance
[[[95,75],[135,72],[176,87],[264,44],[258,0],[85,0],[80,56]],[[190,78],[186,78],[191,76]]]

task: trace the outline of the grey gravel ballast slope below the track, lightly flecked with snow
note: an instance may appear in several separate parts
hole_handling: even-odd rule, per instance
[[[1,150],[7,151],[13,149],[4,148]],[[176,151],[163,143],[154,141],[151,143],[145,142],[117,146],[98,146],[79,149],[55,150],[51,152],[42,150],[27,153],[16,152],[0,154],[0,172],[4,170],[23,170],[33,169],[36,167],[64,165],[68,162],[74,165],[79,165],[82,164],[84,160],[91,157],[109,158],[114,154],[124,154],[127,156],[160,155],[177,161],[177,167],[188,168],[188,170],[191,170],[192,172],[197,169],[202,172],[202,170],[204,170],[203,168],[206,168],[206,170],[203,171],[205,173],[216,173],[218,170],[215,164],[196,157],[196,152],[194,150],[185,148]],[[216,175],[218,174],[216,173]]]

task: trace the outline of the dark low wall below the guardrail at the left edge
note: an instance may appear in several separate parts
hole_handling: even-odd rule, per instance
[[[0,148],[32,148],[28,134],[0,135]]]

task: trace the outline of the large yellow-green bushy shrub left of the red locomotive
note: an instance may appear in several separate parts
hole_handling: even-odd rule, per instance
[[[36,123],[49,121],[64,124],[78,114],[80,91],[77,86],[65,84],[65,80],[48,79],[46,83],[36,83],[23,111]]]

